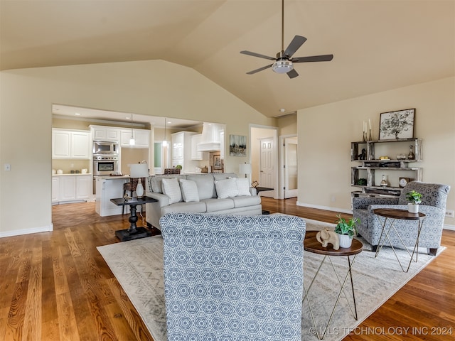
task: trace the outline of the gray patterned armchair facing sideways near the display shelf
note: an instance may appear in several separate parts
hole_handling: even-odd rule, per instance
[[[419,238],[419,247],[426,247],[429,254],[435,255],[441,246],[441,234],[444,227],[444,215],[446,212],[447,193],[449,185],[438,183],[422,183],[411,181],[405,185],[400,197],[353,197],[353,216],[360,219],[358,226],[359,234],[369,242],[373,251],[376,251],[382,230],[382,220],[378,215],[373,214],[377,208],[397,208],[407,210],[406,193],[416,190],[422,193],[422,203],[419,205],[419,212],[427,215],[422,232]],[[406,246],[412,247],[415,244],[417,227],[415,222],[410,220],[400,221],[400,235]],[[395,236],[395,239],[397,236]],[[393,235],[391,240],[393,242]],[[390,245],[386,240],[384,245]],[[399,246],[393,242],[393,246]]]

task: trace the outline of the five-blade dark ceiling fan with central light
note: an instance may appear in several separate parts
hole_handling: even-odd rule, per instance
[[[301,45],[305,43],[305,41],[306,41],[305,37],[295,36],[294,39],[292,39],[289,46],[286,48],[286,50],[284,50],[284,0],[282,0],[282,50],[279,53],[277,53],[277,58],[245,50],[240,51],[240,53],[244,55],[252,55],[253,57],[259,57],[275,61],[273,64],[264,67],[259,67],[259,69],[247,72],[247,75],[253,75],[256,72],[266,70],[269,67],[272,67],[272,70],[274,70],[274,72],[287,73],[289,78],[294,78],[299,75],[294,69],[294,63],[329,62],[333,59],[333,55],[312,55],[309,57],[292,58],[292,55],[296,53],[296,50],[299,50],[299,48],[301,47]]]

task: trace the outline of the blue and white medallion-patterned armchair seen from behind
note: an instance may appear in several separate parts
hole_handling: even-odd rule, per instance
[[[160,225],[168,341],[301,340],[303,219],[171,213]]]

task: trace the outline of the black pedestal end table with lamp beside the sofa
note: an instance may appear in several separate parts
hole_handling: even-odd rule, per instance
[[[136,207],[137,205],[143,205],[147,202],[156,202],[158,200],[152,197],[132,197],[130,199],[118,197],[111,199],[111,201],[117,206],[129,205],[129,229],[119,229],[115,232],[115,235],[118,239],[120,239],[120,242],[151,236],[151,231],[149,231],[149,229],[146,229],[145,227],[137,227],[136,222],[138,218],[136,215]]]

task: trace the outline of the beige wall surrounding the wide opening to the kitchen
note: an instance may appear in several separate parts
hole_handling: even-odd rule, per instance
[[[275,124],[195,70],[162,60],[0,72],[0,237],[52,228],[52,104],[225,123],[225,136]],[[226,154],[225,171],[237,172],[244,161]]]

